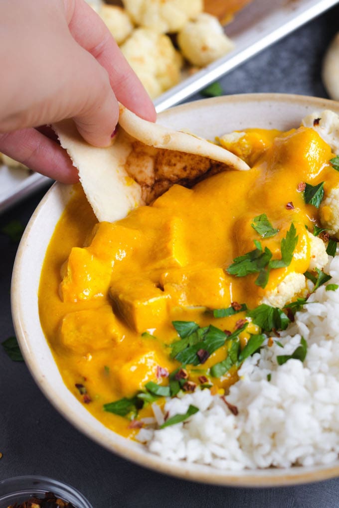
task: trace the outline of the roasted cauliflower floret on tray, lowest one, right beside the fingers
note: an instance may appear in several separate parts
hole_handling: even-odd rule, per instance
[[[182,58],[168,36],[137,28],[120,49],[152,99],[179,82]]]

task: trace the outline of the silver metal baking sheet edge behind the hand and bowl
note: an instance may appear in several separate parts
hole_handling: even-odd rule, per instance
[[[154,101],[158,112],[182,102],[240,63],[315,18],[338,0],[253,0],[226,26],[235,48]],[[0,166],[0,213],[51,180]]]

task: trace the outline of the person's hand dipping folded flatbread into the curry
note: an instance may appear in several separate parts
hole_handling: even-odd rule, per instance
[[[155,120],[142,84],[84,0],[1,0],[0,19],[1,152],[73,183],[78,175],[67,153],[38,126],[73,118],[88,143],[104,147],[118,121],[117,101]]]

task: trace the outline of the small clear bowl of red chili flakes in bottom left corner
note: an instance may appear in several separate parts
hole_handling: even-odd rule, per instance
[[[0,508],[8,508],[16,502],[27,501],[29,497],[44,498],[45,492],[52,492],[76,508],[93,508],[87,499],[66,483],[41,476],[22,476],[0,481]]]

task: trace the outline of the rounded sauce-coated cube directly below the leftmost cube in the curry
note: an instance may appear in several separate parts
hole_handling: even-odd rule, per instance
[[[80,355],[105,349],[124,335],[110,305],[66,314],[59,333],[61,343]]]

